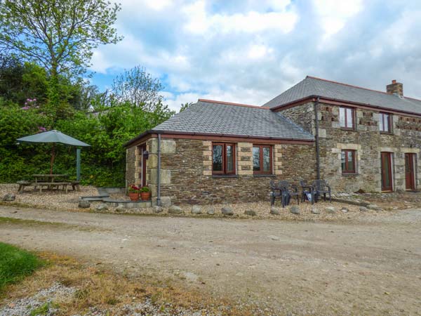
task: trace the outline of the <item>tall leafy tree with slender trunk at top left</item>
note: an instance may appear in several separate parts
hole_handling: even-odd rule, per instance
[[[119,10],[104,0],[0,0],[0,48],[44,66],[58,106],[59,75],[80,77],[93,48],[121,39],[112,26]]]

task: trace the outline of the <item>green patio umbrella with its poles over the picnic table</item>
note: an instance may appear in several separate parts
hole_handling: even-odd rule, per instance
[[[53,148],[51,150],[51,163],[50,163],[50,174],[53,174],[53,163],[54,163],[54,156],[55,156],[55,143],[61,143],[65,145],[70,146],[77,146],[77,147],[88,147],[91,145],[88,145],[86,143],[81,142],[80,140],[77,140],[76,138],[72,138],[70,136],[67,136],[66,134],[63,134],[60,131],[46,131],[43,133],[34,134],[31,136],[25,136],[22,138],[18,138],[18,141],[25,142],[25,143],[53,143]],[[78,180],[79,180],[79,173],[80,173],[80,151],[78,149],[77,152],[77,173],[78,173]]]

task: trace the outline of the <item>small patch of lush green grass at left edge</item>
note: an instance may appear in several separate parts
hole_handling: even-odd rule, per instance
[[[7,284],[19,282],[44,265],[34,254],[0,242],[0,293]]]

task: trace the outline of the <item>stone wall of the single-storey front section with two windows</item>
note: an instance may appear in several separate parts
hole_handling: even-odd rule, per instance
[[[156,197],[156,138],[148,140],[148,184]],[[253,176],[252,143],[236,144],[236,175],[212,176],[212,142],[163,139],[161,197],[174,204],[269,201],[269,181],[313,179],[314,145],[273,145],[274,175]],[[296,159],[299,154],[303,159]],[[247,158],[246,158],[247,157]],[[250,168],[247,168],[250,167]]]

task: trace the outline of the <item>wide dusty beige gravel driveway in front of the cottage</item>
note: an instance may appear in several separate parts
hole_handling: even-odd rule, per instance
[[[119,216],[0,206],[0,241],[184,279],[294,314],[421,315],[421,210],[347,223]]]

